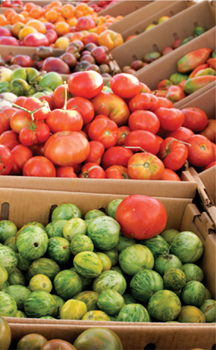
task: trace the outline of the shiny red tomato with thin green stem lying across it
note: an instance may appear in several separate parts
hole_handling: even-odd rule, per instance
[[[23,102],[23,108],[27,109],[30,112],[34,112],[40,107],[41,109],[38,112],[33,113],[35,120],[44,120],[48,117],[50,112],[48,103],[42,102],[39,100],[39,98],[36,97],[27,97],[27,99]],[[31,118],[30,114],[29,118]]]

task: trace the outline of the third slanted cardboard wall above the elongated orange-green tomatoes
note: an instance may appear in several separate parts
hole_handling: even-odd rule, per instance
[[[149,24],[157,24],[160,17],[169,16],[172,18],[172,16],[185,11],[193,4],[194,2],[184,0],[155,1],[111,24],[109,29],[121,33],[123,39],[126,40],[130,35],[137,35],[144,32]]]

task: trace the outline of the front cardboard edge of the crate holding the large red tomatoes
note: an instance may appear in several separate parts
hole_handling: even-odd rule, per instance
[[[145,194],[159,197],[193,198],[197,183],[186,181],[114,180],[81,178],[39,178],[28,176],[1,176],[0,187],[55,190],[68,192],[92,192],[106,194]]]

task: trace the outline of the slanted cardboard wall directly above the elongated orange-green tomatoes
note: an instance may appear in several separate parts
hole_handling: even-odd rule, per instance
[[[161,24],[161,26],[163,23]],[[152,31],[154,30],[151,29]],[[132,39],[135,40],[135,39]],[[169,79],[171,74],[177,72],[177,62],[187,53],[197,50],[201,47],[208,47],[212,50],[215,49],[216,42],[216,27],[209,29],[206,33],[191,40],[187,44],[182,45],[176,50],[173,50],[169,55],[165,55],[160,59],[152,62],[148,66],[138,70],[136,72],[137,78],[147,84],[151,90],[155,90],[157,84],[163,79]],[[156,73],[155,73],[156,72]],[[200,89],[200,93],[202,93]],[[191,94],[192,95],[192,94]],[[185,97],[186,102],[187,97]]]

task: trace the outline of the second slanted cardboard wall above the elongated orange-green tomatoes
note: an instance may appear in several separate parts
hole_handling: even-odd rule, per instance
[[[177,5],[185,6],[185,2],[178,1]],[[139,35],[113,49],[111,52],[112,56],[122,69],[124,66],[131,65],[134,60],[142,60],[143,56],[147,53],[154,51],[161,52],[165,47],[172,46],[176,39],[184,39],[189,37],[192,35],[194,27],[202,26],[206,30],[213,28],[215,26],[215,17],[215,8],[213,7],[213,3],[209,1],[202,1],[201,3],[181,11],[180,13],[171,17],[168,21],[165,21],[155,28],[141,34],[139,33],[141,32],[141,29],[144,29],[144,27],[141,26],[140,22],[140,30],[137,31],[137,34]],[[121,21],[122,20],[119,21],[119,24]],[[179,49],[175,49],[175,51],[176,50]],[[168,58],[169,56],[166,55],[166,60]],[[161,62],[161,58],[159,58],[157,62],[159,64],[159,62]],[[163,61],[161,64],[161,67],[164,68]],[[143,69],[143,73],[148,69],[148,67],[150,68],[150,66],[146,66],[145,69]],[[160,68],[160,70],[162,69]],[[137,73],[139,73],[139,71]],[[154,75],[156,76],[156,74]]]

